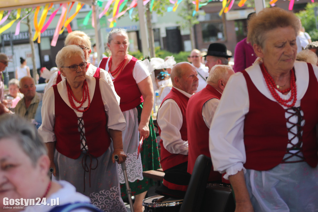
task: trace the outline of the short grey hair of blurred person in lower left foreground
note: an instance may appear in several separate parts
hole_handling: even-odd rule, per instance
[[[33,166],[47,149],[33,124],[17,115],[3,114],[0,116],[0,140],[13,138],[23,152],[31,159]]]

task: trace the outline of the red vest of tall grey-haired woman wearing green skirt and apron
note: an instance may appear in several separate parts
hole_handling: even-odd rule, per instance
[[[108,58],[104,57],[99,67],[105,69]],[[133,77],[133,69],[138,59],[133,57],[126,67],[116,77],[114,82],[114,88],[120,97],[120,109],[126,111],[133,109],[143,102],[142,94],[138,88],[138,85]]]

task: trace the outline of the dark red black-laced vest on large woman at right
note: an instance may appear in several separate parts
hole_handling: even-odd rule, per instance
[[[318,123],[318,82],[311,64],[308,63],[309,84],[301,99],[305,125],[302,127],[302,153],[305,161],[317,166],[316,124]],[[302,70],[305,71],[305,70]],[[244,120],[244,167],[264,171],[281,163],[288,143],[285,110],[279,103],[264,96],[244,70],[249,95],[249,112]]]

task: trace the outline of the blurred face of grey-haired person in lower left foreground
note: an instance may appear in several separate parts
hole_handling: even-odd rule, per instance
[[[45,170],[40,165],[40,160],[41,158],[36,166],[33,166],[31,159],[20,148],[15,138],[0,139],[1,208],[4,207],[3,198],[5,197],[9,199],[35,199],[42,197],[41,191],[43,188],[41,187]]]

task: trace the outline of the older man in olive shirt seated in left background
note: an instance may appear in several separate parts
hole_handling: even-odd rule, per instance
[[[15,113],[27,120],[34,119],[38,104],[42,101],[43,94],[36,91],[32,77],[25,76],[20,80],[20,92],[24,97],[17,103]]]

